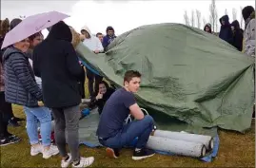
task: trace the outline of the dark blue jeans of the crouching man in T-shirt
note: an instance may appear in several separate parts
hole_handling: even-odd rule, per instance
[[[154,127],[154,121],[151,116],[145,116],[143,120],[131,121],[124,125],[114,137],[107,140],[102,140],[99,137],[99,141],[102,145],[110,148],[122,148],[125,145],[131,143],[132,140],[138,138],[136,148],[144,148],[148,142],[150,133]]]

